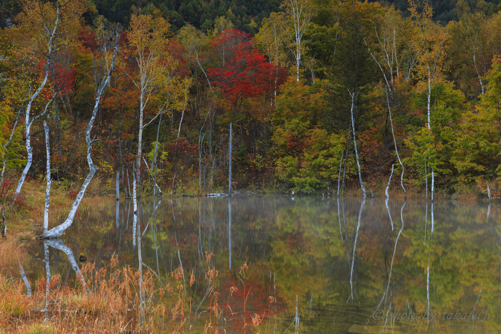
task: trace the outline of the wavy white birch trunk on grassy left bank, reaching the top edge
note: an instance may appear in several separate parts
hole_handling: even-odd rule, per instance
[[[14,197],[12,200],[12,203],[16,202],[16,198],[18,197],[19,193],[21,192],[21,188],[23,187],[23,183],[25,182],[26,176],[28,175],[28,171],[30,170],[31,164],[33,162],[33,148],[31,147],[31,134],[30,134],[30,128],[31,125],[33,124],[33,120],[30,120],[30,113],[31,113],[31,107],[33,105],[33,102],[37,98],[37,96],[40,94],[42,89],[44,89],[45,84],[47,83],[47,79],[49,78],[49,66],[51,65],[52,62],[52,40],[54,36],[56,35],[56,29],[58,27],[58,22],[59,22],[59,2],[57,3],[57,12],[56,12],[56,22],[54,23],[54,29],[52,32],[49,34],[49,44],[48,44],[48,54],[47,54],[47,62],[45,65],[45,75],[44,79],[42,80],[42,83],[40,84],[40,87],[33,93],[33,95],[30,96],[28,100],[28,105],[26,107],[26,151],[28,152],[28,160],[26,162],[25,169],[23,170],[23,173],[21,174],[21,178],[19,180],[18,186],[16,187],[16,190],[14,191]],[[48,32],[48,27],[44,27],[46,31]],[[47,109],[46,109],[47,110]],[[45,112],[44,112],[45,113]]]

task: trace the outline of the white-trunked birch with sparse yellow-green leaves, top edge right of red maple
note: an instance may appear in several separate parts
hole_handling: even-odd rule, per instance
[[[296,81],[299,81],[299,67],[307,51],[304,34],[310,29],[311,20],[317,15],[317,6],[311,0],[284,0],[281,8],[286,13],[284,41],[294,56]]]

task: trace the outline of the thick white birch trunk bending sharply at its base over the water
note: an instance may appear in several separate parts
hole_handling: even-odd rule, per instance
[[[91,157],[93,139],[91,139],[90,133],[92,130],[92,126],[94,124],[94,120],[96,119],[96,114],[97,114],[97,110],[99,107],[99,101],[101,100],[101,95],[103,94],[104,88],[106,87],[106,85],[110,81],[111,73],[113,72],[113,67],[115,65],[115,58],[116,58],[117,51],[118,51],[118,37],[119,37],[119,34],[118,34],[118,27],[117,27],[116,38],[115,38],[115,47],[114,47],[114,51],[113,51],[113,58],[111,61],[110,70],[108,72],[108,75],[103,78],[103,80],[101,81],[101,84],[99,85],[99,88],[98,88],[97,94],[96,94],[96,103],[94,105],[94,110],[92,111],[92,117],[89,121],[89,124],[87,125],[87,131],[85,132],[85,139],[87,141],[87,163],[89,164],[89,174],[87,175],[87,178],[85,178],[84,183],[82,184],[82,187],[80,188],[80,192],[78,193],[77,198],[75,199],[75,201],[73,202],[73,205],[71,206],[70,213],[68,214],[68,218],[66,219],[66,221],[63,224],[56,226],[55,228],[53,228],[50,231],[41,235],[39,237],[40,239],[49,239],[49,238],[60,237],[61,235],[63,235],[64,231],[66,231],[66,229],[68,227],[70,227],[71,224],[73,224],[73,219],[75,218],[75,214],[77,213],[77,209],[78,209],[78,206],[80,205],[80,202],[82,202],[82,199],[83,199],[84,194],[85,194],[85,190],[87,189],[87,186],[89,186],[89,183],[91,182],[92,178],[94,177],[94,174],[96,173],[97,167],[94,164],[94,162],[92,161],[92,157]]]

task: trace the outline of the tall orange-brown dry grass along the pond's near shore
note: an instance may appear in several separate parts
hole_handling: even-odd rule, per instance
[[[189,286],[195,283],[193,272],[184,273],[178,268],[165,286],[159,284],[158,277],[150,271],[143,271],[140,283],[138,270],[117,267],[117,256],[112,257],[108,267],[99,270],[93,263],[84,264],[81,274],[85,285],[78,278],[75,287],[63,284],[60,275],[55,274],[50,278],[46,294],[47,281],[39,279],[32,288],[31,297],[27,296],[21,279],[9,278],[0,272],[0,334],[219,334],[226,332],[228,325],[237,327],[242,333],[259,331],[263,319],[245,308],[245,294],[248,295],[250,289],[245,286],[247,265],[240,267],[238,276],[243,286],[241,294],[245,297],[234,299],[237,303],[243,300],[243,305],[237,307],[240,310],[235,312],[236,305],[232,310],[229,302],[236,297],[238,288],[231,286],[228,291],[219,291],[218,271],[211,261],[212,255],[206,253],[202,278],[205,282],[199,284],[207,288],[198,307],[189,292]],[[226,298],[227,301],[223,301]],[[204,300],[205,306],[202,306]],[[198,314],[197,311],[193,314],[192,309],[199,310]]]

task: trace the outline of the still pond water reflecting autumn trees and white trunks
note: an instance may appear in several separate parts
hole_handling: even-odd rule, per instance
[[[97,267],[115,253],[121,266],[137,268],[140,250],[157,284],[173,283],[172,272],[183,269],[192,328],[201,332],[214,305],[207,297],[213,254],[226,332],[501,331],[501,225],[487,204],[141,199],[135,229],[133,210],[124,200],[81,212],[63,246],[55,245],[60,250],[50,247],[52,274],[75,281],[80,253]],[[45,277],[44,244],[30,253],[33,285]]]

